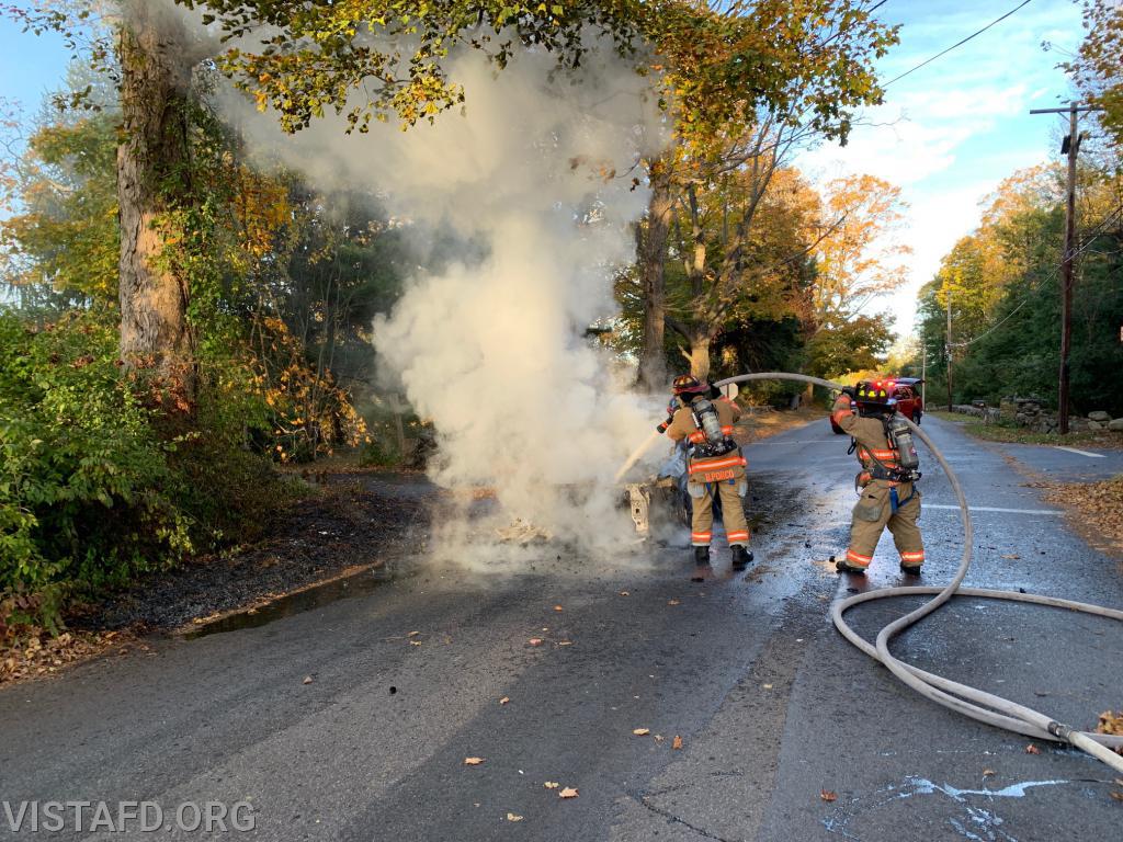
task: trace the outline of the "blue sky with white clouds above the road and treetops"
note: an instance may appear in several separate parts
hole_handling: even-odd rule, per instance
[[[888,0],[878,13],[903,24],[884,79],[951,46],[1021,0]],[[867,311],[891,311],[911,331],[916,290],[940,257],[978,222],[979,201],[1021,167],[1057,156],[1058,118],[1031,117],[1069,93],[1056,65],[1083,38],[1074,0],[1032,0],[970,43],[888,88],[846,148],[823,146],[797,162],[814,181],[871,173],[898,184],[911,209],[901,239],[913,248],[910,281]],[[1042,42],[1053,49],[1044,52]],[[0,97],[35,113],[62,79],[69,53],[54,35],[22,34],[0,18]]]

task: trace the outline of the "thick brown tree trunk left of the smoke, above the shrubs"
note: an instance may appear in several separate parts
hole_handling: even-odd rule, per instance
[[[117,196],[121,359],[173,395],[193,394],[188,278],[164,254],[170,211],[186,192],[190,67],[179,18],[145,0],[124,3],[121,143]]]

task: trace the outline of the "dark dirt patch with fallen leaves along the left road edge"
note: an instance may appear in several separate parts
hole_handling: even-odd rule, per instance
[[[102,655],[146,649],[143,635],[265,604],[409,551],[438,489],[421,474],[332,466],[313,492],[276,515],[266,538],[204,556],[72,610],[67,631],[0,648],[0,685],[46,677]]]

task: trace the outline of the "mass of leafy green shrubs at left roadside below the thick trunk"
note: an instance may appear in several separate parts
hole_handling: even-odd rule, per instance
[[[57,628],[72,595],[253,540],[300,493],[249,449],[268,417],[228,369],[164,417],[122,374],[113,326],[0,310],[0,628]]]

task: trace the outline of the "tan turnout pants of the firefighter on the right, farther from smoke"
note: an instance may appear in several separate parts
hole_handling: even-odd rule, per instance
[[[898,504],[894,511],[893,493]],[[846,560],[851,567],[868,567],[874,560],[874,551],[882,531],[888,527],[893,542],[901,553],[905,567],[924,564],[924,541],[916,521],[920,519],[920,492],[912,483],[903,483],[895,488],[873,482],[862,488],[861,500],[853,507],[850,523],[850,549]]]

